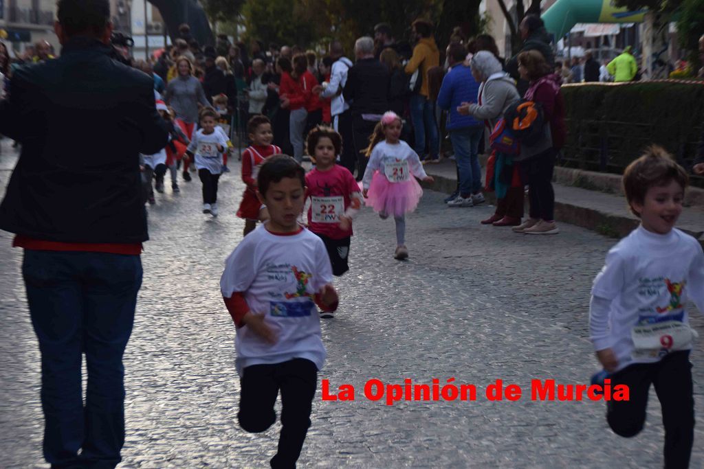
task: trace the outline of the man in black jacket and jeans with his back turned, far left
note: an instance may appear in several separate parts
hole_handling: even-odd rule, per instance
[[[0,229],[25,250],[44,457],[57,468],[114,468],[125,441],[122,354],[148,238],[139,153],[163,148],[167,129],[153,79],[110,57],[108,0],[59,0],[57,15],[61,57],[15,72],[0,102],[0,133],[22,143]]]

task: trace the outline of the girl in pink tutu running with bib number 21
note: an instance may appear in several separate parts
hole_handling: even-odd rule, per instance
[[[406,214],[418,205],[423,190],[415,178],[433,181],[425,174],[417,153],[401,140],[401,117],[389,111],[370,136],[366,155],[369,157],[362,184],[366,204],[386,219],[394,216],[396,221],[396,252],[398,260],[408,257],[406,248]]]

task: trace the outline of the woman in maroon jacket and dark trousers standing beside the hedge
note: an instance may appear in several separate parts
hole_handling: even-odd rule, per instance
[[[560,92],[560,77],[539,51],[518,54],[518,71],[529,87],[524,101],[536,103],[543,112],[543,136],[532,145],[522,143],[520,169],[523,182],[528,184],[530,198],[529,219],[513,231],[525,234],[559,233],[555,224],[555,192],[553,170],[555,157],[565,144],[565,103]]]

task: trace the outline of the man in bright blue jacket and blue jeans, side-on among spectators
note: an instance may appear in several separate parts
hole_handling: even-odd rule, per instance
[[[482,168],[479,167],[479,140],[482,139],[484,124],[468,115],[461,115],[457,108],[464,102],[477,101],[479,84],[472,76],[472,70],[464,65],[467,50],[462,44],[450,44],[447,50],[451,70],[445,75],[438,105],[449,110],[447,129],[455,150],[459,192],[449,200],[450,207],[472,207],[484,202],[482,194]]]

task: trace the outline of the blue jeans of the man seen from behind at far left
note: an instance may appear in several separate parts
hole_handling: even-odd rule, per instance
[[[125,443],[122,354],[132,333],[142,260],[25,250],[22,274],[42,355],[44,458],[57,468],[114,468]]]

